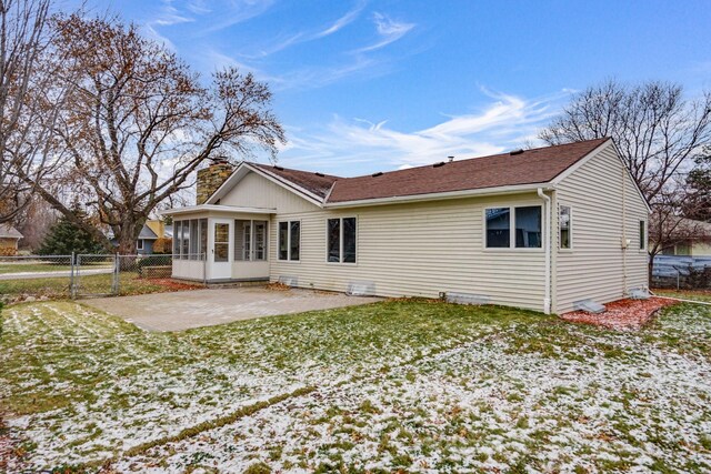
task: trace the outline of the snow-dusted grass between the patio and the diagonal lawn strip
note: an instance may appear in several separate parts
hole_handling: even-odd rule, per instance
[[[100,462],[298,389],[387,371],[538,317],[393,302],[166,334],[70,302],[3,314],[0,403],[37,468]]]

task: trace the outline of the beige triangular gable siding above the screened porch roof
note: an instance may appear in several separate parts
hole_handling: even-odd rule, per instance
[[[244,208],[278,208],[279,212],[308,212],[319,206],[257,173],[247,174],[220,204]]]

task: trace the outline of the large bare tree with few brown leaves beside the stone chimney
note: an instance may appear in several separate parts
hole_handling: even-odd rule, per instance
[[[110,228],[121,253],[159,203],[192,184],[211,157],[232,151],[276,154],[283,130],[270,112],[271,92],[252,74],[216,72],[209,87],[163,46],[118,19],[54,20],[59,87],[70,85],[54,127],[52,181],[26,181],[67,219],[107,248]],[[79,198],[99,219],[79,220],[67,202]]]

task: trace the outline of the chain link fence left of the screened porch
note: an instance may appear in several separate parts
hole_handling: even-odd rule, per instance
[[[183,260],[186,255],[182,255]],[[204,282],[204,255],[189,255]],[[171,280],[173,255],[0,256],[0,300],[6,303],[57,297],[92,297],[180,290]],[[193,282],[196,283],[196,282]]]

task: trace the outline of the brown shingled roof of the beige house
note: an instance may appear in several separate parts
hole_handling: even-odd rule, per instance
[[[249,163],[324,203],[414,196],[442,192],[548,183],[609,138],[441,162],[407,170],[340,178],[310,171]]]

